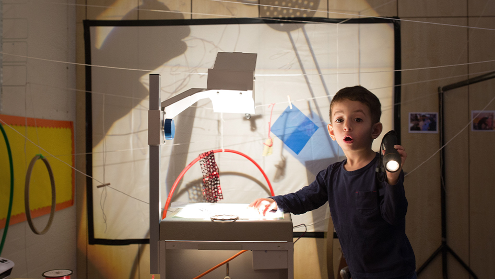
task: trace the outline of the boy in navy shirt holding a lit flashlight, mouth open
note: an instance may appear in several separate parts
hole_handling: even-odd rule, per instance
[[[416,279],[416,262],[405,235],[407,200],[401,169],[376,178],[379,154],[371,149],[383,127],[378,98],[361,86],[341,89],[330,103],[328,133],[347,159],[318,173],[309,186],[249,204],[260,214],[279,209],[302,214],[326,201],[353,279]]]

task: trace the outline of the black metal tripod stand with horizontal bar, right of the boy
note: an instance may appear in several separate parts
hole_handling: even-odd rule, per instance
[[[495,72],[491,72],[479,77],[475,77],[472,79],[468,79],[462,82],[458,82],[455,84],[447,85],[444,87],[439,87],[438,88],[438,108],[439,108],[439,135],[440,135],[440,147],[443,147],[445,145],[445,137],[444,137],[444,99],[443,99],[443,94],[446,91],[453,90],[456,88],[460,88],[463,86],[467,86],[470,84],[474,83],[479,83],[482,81],[490,80],[495,78]],[[433,252],[433,254],[424,262],[421,267],[418,268],[416,273],[419,275],[430,263],[435,259],[436,256],[438,256],[440,253],[442,253],[442,274],[443,278],[447,279],[447,253],[450,253],[456,261],[461,264],[461,266],[474,278],[478,279],[478,276],[469,268],[466,263],[461,260],[461,258],[449,247],[447,244],[447,214],[446,214],[446,203],[445,203],[445,152],[444,149],[442,148],[440,150],[440,166],[441,166],[441,177],[440,177],[440,196],[441,196],[441,208],[442,208],[442,244],[438,249]]]

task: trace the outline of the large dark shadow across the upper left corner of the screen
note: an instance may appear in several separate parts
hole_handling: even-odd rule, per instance
[[[139,19],[184,19],[182,13],[160,12],[170,9],[157,0],[144,1],[139,8],[145,10],[139,11]],[[122,19],[135,19],[135,10],[128,12]],[[100,61],[98,63],[103,63],[105,66],[145,69],[150,70],[151,73],[153,69],[186,52],[187,45],[182,39],[186,38],[190,31],[189,26],[114,27],[100,49],[92,48],[92,59],[97,57],[96,61]],[[107,135],[118,119],[132,109],[148,109],[146,102],[141,106],[139,103],[148,97],[149,92],[139,81],[147,74],[144,71],[96,67],[93,67],[92,71],[93,84],[103,84],[101,88],[93,90],[96,92],[102,90],[107,94],[105,100],[102,95],[93,94],[93,147],[95,147],[103,139],[103,132]],[[103,101],[105,107],[102,107]]]

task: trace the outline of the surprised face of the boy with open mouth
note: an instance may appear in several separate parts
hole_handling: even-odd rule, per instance
[[[373,123],[370,108],[360,101],[334,103],[330,120],[328,133],[344,151],[369,150],[383,128]]]

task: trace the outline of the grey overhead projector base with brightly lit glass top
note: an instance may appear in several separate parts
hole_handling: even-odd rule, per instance
[[[232,278],[293,279],[290,213],[263,217],[248,211],[247,204],[196,203],[168,215],[160,222],[160,278],[195,278],[237,252],[249,250],[230,262]],[[218,214],[239,218],[213,221],[211,217]],[[224,278],[226,266],[211,276]]]

